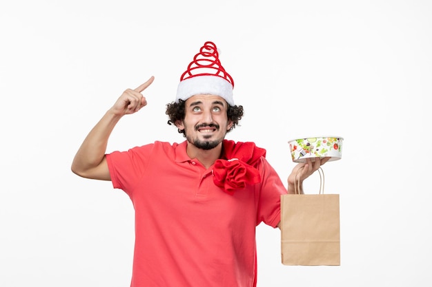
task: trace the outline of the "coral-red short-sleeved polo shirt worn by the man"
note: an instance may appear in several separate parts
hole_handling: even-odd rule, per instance
[[[286,193],[264,157],[262,182],[230,195],[181,144],[155,142],[106,155],[113,187],[135,208],[132,287],[256,286],[255,227],[276,227]]]

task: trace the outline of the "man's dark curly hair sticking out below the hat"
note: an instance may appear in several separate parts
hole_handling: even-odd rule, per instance
[[[232,131],[236,125],[238,125],[239,120],[242,119],[243,116],[243,106],[239,105],[228,105],[228,109],[226,111],[226,115],[228,116],[228,120],[233,121],[233,126],[227,131]],[[166,111],[165,114],[168,115],[170,118],[168,120],[168,125],[175,125],[175,122],[177,120],[184,120],[184,117],[186,116],[185,113],[185,101],[179,100],[179,103],[169,103],[166,104]],[[179,134],[183,134],[184,137],[186,137],[186,134],[184,132],[184,129],[177,129],[179,131]]]

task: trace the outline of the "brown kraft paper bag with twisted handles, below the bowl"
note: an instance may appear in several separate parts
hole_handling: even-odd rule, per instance
[[[281,253],[284,265],[340,265],[339,194],[281,195]]]

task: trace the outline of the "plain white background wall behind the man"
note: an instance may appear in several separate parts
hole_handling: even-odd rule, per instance
[[[151,75],[108,149],[183,140],[165,105],[208,40],[246,111],[228,138],[265,147],[284,182],[288,140],[345,138],[324,166],[342,265],[283,266],[260,225],[258,285],[430,286],[431,1],[1,1],[0,39],[0,286],[129,286],[132,204],[70,164]]]

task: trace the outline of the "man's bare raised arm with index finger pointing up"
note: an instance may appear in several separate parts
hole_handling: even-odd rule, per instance
[[[83,178],[111,180],[105,156],[108,138],[122,116],[134,114],[147,105],[146,98],[141,92],[153,83],[153,80],[152,76],[136,89],[126,89],[117,102],[106,111],[79,147],[71,166],[73,173]]]

